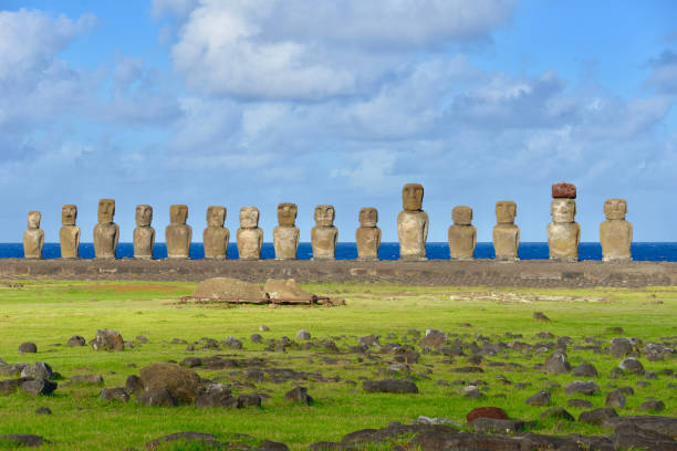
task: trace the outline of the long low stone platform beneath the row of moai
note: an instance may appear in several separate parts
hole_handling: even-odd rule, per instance
[[[229,276],[263,283],[269,277],[299,282],[388,282],[413,285],[591,287],[677,285],[674,262],[576,263],[548,260],[424,262],[355,260],[23,260],[2,259],[1,279],[201,281]]]

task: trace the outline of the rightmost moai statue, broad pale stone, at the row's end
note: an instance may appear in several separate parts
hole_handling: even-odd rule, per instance
[[[604,202],[606,221],[600,224],[600,242],[605,262],[633,260],[633,224],[625,220],[626,213],[627,202],[624,199],[607,199]]]

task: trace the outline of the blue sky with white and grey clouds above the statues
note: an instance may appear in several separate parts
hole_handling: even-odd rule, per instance
[[[498,200],[545,241],[551,185],[576,185],[583,241],[607,198],[635,241],[677,241],[673,0],[0,0],[0,242],[30,210],[59,241],[61,206],[92,241],[101,198],[121,241],[136,204],[317,204],[354,241],[376,207],[397,241],[402,186],[425,187],[428,241],[451,209],[491,240]]]

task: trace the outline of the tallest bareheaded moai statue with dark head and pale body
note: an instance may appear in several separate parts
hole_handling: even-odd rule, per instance
[[[397,214],[399,260],[428,260],[426,240],[430,220],[428,213],[421,210],[423,196],[423,185],[419,183],[407,183],[402,189],[404,210]]]

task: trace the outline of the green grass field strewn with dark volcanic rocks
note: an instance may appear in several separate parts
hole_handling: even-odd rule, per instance
[[[308,291],[343,297],[343,307],[278,307],[179,304],[177,301],[192,292],[194,283],[179,282],[69,282],[14,281],[0,285],[0,358],[9,364],[38,360],[49,363],[63,379],[51,397],[30,397],[24,394],[0,396],[0,434],[34,433],[52,441],[53,450],[111,450],[143,448],[143,443],[159,436],[194,430],[210,432],[218,438],[231,433],[246,433],[257,439],[281,441],[292,449],[305,449],[309,443],[340,440],[345,433],[363,428],[381,428],[390,421],[409,422],[420,415],[450,418],[465,423],[465,415],[475,407],[498,406],[514,419],[535,421],[534,430],[542,433],[603,433],[604,431],[577,422],[542,420],[546,408],[531,407],[524,400],[550,382],[552,406],[565,407],[575,417],[585,410],[566,406],[571,398],[585,398],[595,407],[604,406],[604,392],[611,384],[632,386],[635,395],[627,405],[617,409],[619,415],[645,415],[637,406],[647,397],[662,399],[666,410],[662,415],[677,416],[677,378],[660,375],[638,386],[642,376],[610,379],[611,369],[621,359],[606,353],[570,350],[572,366],[592,363],[600,376],[594,378],[603,394],[591,397],[565,396],[564,385],[580,379],[571,374],[551,376],[532,369],[543,363],[548,354],[522,354],[510,350],[486,357],[480,365],[485,373],[459,374],[454,368],[468,366],[465,357],[454,363],[441,363],[446,356],[424,354],[419,363],[410,365],[418,395],[366,394],[362,380],[384,378],[383,369],[393,356],[374,353],[375,359],[363,354],[347,353],[357,337],[377,334],[381,343],[416,344],[408,329],[425,332],[437,328],[458,334],[464,342],[478,340],[478,334],[492,343],[510,342],[506,333],[522,334],[521,342],[548,342],[535,335],[546,331],[556,337],[570,336],[573,345],[584,345],[592,337],[608,345],[612,337],[638,337],[645,343],[675,343],[677,338],[677,287],[587,289],[494,289],[494,287],[429,287],[393,284],[342,283],[303,285]],[[533,312],[543,312],[550,322],[535,322]],[[259,332],[265,324],[269,332]],[[623,334],[607,331],[621,326]],[[122,353],[97,353],[86,347],[67,347],[72,335],[90,340],[97,328],[114,328],[127,340],[138,335],[148,343],[136,343]],[[263,350],[265,340],[282,336],[294,338],[299,329],[309,331],[313,338],[334,339],[341,353],[333,354],[321,347],[288,353]],[[253,344],[251,334],[263,335],[263,344]],[[406,336],[405,336],[406,335]],[[235,336],[244,344],[243,349],[208,349],[188,352],[186,345],[170,344],[173,338],[188,343],[202,337],[222,340]],[[387,337],[387,338],[386,338]],[[673,338],[666,338],[673,337]],[[455,338],[454,336],[451,337]],[[556,338],[555,338],[556,339]],[[19,355],[23,342],[38,345],[38,354]],[[418,348],[419,349],[419,348]],[[419,349],[420,350],[420,349]],[[311,407],[290,406],[283,394],[298,382],[271,380],[256,382],[256,387],[235,389],[238,394],[263,394],[270,398],[261,409],[238,410],[178,408],[148,408],[134,402],[106,403],[98,399],[100,386],[66,385],[74,375],[96,374],[106,387],[124,386],[131,374],[156,361],[180,361],[188,356],[227,355],[232,358],[262,357],[269,366],[293,368],[298,371],[321,374],[323,378],[337,377],[340,381],[302,382],[313,396]],[[664,368],[677,370],[675,359],[648,361],[640,358],[647,370]],[[515,363],[521,368],[490,366],[489,363]],[[131,364],[136,367],[129,367]],[[195,368],[201,377],[220,378],[221,382],[246,382],[243,370],[204,370]],[[512,384],[504,385],[498,375]],[[449,385],[440,385],[442,379]],[[582,378],[587,379],[587,378]],[[455,380],[483,380],[486,399],[462,398]],[[528,384],[515,389],[515,384]],[[39,416],[41,406],[52,415]]]

